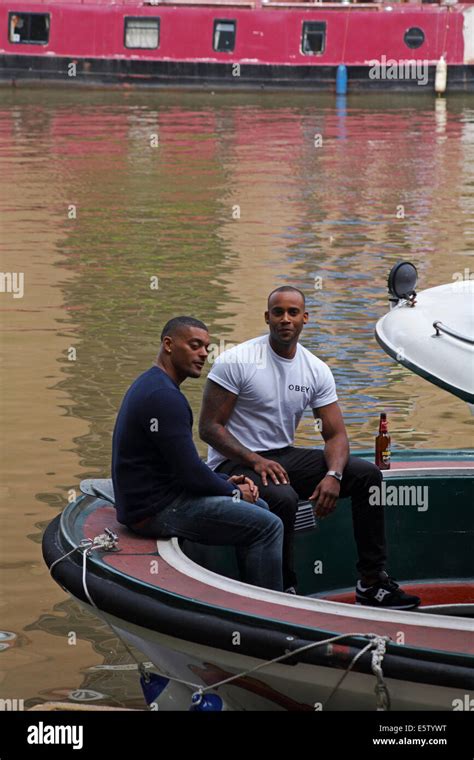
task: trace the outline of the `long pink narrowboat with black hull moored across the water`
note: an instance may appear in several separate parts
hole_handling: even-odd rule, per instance
[[[474,0],[0,0],[0,82],[474,90]]]

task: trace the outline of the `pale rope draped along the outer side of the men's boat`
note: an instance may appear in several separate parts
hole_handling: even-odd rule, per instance
[[[99,536],[96,536],[94,539],[90,539],[90,538],[82,539],[82,541],[77,546],[75,546],[70,552],[67,552],[67,554],[64,554],[62,557],[59,557],[57,560],[55,560],[51,564],[49,571],[52,575],[52,570],[58,564],[58,562],[61,562],[63,559],[66,559],[66,557],[69,557],[75,551],[80,551],[82,549],[82,585],[83,585],[84,593],[87,599],[89,600],[91,606],[94,607],[94,609],[97,611],[100,619],[103,620],[109,626],[114,636],[120,639],[120,641],[124,645],[125,649],[129,653],[131,658],[136,662],[138,671],[140,672],[142,677],[145,679],[145,681],[149,681],[150,674],[148,673],[148,670],[147,670],[147,668],[149,668],[149,664],[137,659],[137,657],[132,652],[128,644],[124,641],[123,637],[118,633],[118,631],[115,630],[115,628],[107,620],[107,618],[103,616],[102,611],[99,609],[99,607],[96,605],[96,603],[92,599],[89,593],[89,589],[87,587],[87,581],[86,581],[87,557],[90,556],[92,552],[97,551],[98,549],[102,549],[104,551],[116,551],[117,543],[118,543],[118,536],[116,535],[116,533],[114,533],[109,528],[106,528],[105,533],[101,533]],[[380,634],[377,634],[377,633],[343,633],[343,634],[339,634],[338,636],[331,636],[328,639],[323,639],[322,641],[313,641],[310,644],[305,644],[304,646],[298,647],[297,649],[293,651],[287,651],[285,652],[285,654],[282,654],[278,657],[274,657],[272,660],[261,662],[258,665],[255,665],[253,668],[247,668],[246,670],[243,670],[234,676],[230,676],[229,678],[224,678],[221,681],[216,681],[216,683],[210,684],[208,686],[202,686],[200,684],[193,683],[192,681],[185,681],[181,678],[176,678],[175,676],[164,675],[163,673],[159,673],[158,675],[162,676],[163,678],[167,678],[169,681],[180,683],[180,684],[183,684],[184,686],[189,686],[190,688],[194,689],[195,691],[192,697],[195,697],[195,696],[202,697],[206,692],[210,692],[213,689],[218,689],[220,686],[224,686],[226,684],[232,683],[232,681],[236,681],[237,679],[245,678],[251,673],[255,673],[257,670],[262,670],[263,668],[267,668],[270,665],[274,665],[275,663],[283,662],[289,657],[295,657],[296,655],[299,655],[302,652],[307,652],[310,649],[316,649],[317,647],[326,646],[328,644],[333,644],[336,641],[342,641],[343,639],[353,638],[353,637],[366,638],[366,639],[370,639],[370,641],[359,652],[357,652],[357,654],[352,658],[351,662],[349,663],[349,666],[347,667],[347,669],[345,670],[345,672],[343,673],[339,681],[334,686],[333,690],[329,694],[329,697],[324,702],[323,708],[326,708],[330,700],[335,696],[340,686],[342,685],[342,682],[349,675],[352,668],[356,664],[357,660],[360,657],[362,657],[366,652],[368,652],[370,649],[372,649],[373,652],[372,652],[372,659],[371,659],[371,669],[372,669],[372,673],[377,679],[377,682],[375,684],[375,696],[376,696],[376,704],[377,704],[376,710],[377,711],[390,710],[390,706],[391,706],[390,693],[385,683],[383,670],[382,670],[383,658],[386,653],[386,645],[387,645],[387,641],[390,641],[390,637],[380,636]]]

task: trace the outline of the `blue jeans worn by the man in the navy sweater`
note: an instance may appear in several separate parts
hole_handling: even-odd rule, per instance
[[[207,546],[235,546],[241,580],[282,591],[283,523],[258,499],[178,496],[144,525],[131,527],[148,538],[187,538]]]

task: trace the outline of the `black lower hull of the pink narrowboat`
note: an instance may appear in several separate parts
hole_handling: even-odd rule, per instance
[[[51,56],[0,55],[0,86],[49,86],[152,89],[218,90],[298,90],[334,92],[338,66],[288,66],[241,64],[238,79],[232,64],[207,61],[131,61],[84,58],[76,61],[77,73],[67,78],[70,58]],[[372,79],[369,66],[347,67],[349,92],[388,91],[432,94],[436,65],[427,69],[426,85],[412,79]],[[474,65],[452,65],[448,69],[449,92],[474,92]]]

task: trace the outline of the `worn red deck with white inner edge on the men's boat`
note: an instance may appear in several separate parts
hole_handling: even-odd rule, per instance
[[[347,592],[309,598],[249,586],[197,565],[184,555],[177,539],[155,541],[135,536],[116,522],[112,506],[95,500],[84,513],[83,537],[94,537],[106,528],[117,533],[120,551],[96,553],[91,562],[102,564],[121,581],[140,584],[143,591],[155,589],[179,597],[181,603],[186,600],[223,613],[278,621],[295,631],[317,628],[335,634],[377,633],[394,642],[402,631],[407,646],[474,654],[474,622],[467,618],[423,613],[423,608],[400,612],[360,607]],[[405,583],[404,587],[421,595],[425,604],[474,603],[473,581],[441,579]]]

